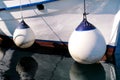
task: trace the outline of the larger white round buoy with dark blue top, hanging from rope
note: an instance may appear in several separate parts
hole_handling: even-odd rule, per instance
[[[73,31],[68,49],[72,58],[83,64],[98,62],[106,51],[106,43],[100,31],[87,19]]]

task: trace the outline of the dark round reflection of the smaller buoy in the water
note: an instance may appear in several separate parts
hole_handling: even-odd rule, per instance
[[[34,80],[38,63],[32,57],[23,57],[17,63],[16,71],[19,73],[21,80]]]

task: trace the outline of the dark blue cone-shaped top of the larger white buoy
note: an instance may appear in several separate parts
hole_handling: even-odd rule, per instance
[[[96,29],[96,27],[89,23],[86,18],[84,18],[80,25],[76,28],[76,31],[88,31],[93,29]]]

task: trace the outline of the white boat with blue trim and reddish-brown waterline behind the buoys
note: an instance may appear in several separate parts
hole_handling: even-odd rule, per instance
[[[114,62],[119,35],[119,0],[87,0],[86,2],[88,21],[93,23],[105,38],[107,50],[102,60]],[[83,4],[83,0],[2,0],[0,2],[1,45],[15,46],[13,34],[23,19],[35,34],[35,42],[30,50],[45,47],[66,50],[68,53],[68,40],[83,19]]]

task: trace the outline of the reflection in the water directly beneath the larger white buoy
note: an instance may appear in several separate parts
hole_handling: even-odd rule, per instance
[[[74,62],[70,69],[70,80],[106,80],[106,74],[100,63],[79,64]]]

